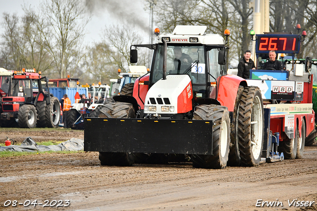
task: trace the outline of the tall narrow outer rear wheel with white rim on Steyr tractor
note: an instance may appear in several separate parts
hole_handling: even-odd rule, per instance
[[[258,87],[245,87],[239,107],[239,152],[241,164],[260,164],[264,139],[264,109]]]

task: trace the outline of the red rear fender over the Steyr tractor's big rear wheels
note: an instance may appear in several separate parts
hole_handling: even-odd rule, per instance
[[[218,83],[217,100],[221,106],[228,107],[228,111],[232,112],[239,86],[247,86],[247,82],[236,75],[224,75],[220,77]]]

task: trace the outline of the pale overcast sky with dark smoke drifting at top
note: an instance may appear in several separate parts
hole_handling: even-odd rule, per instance
[[[10,14],[24,14],[21,5],[31,4],[37,8],[44,0],[0,0],[0,21],[2,22],[3,12]],[[144,7],[149,6],[146,0],[83,0],[92,19],[86,26],[87,34],[85,41],[100,41],[100,34],[106,25],[125,24],[137,27],[140,31],[148,33],[149,10]],[[87,14],[88,15],[88,14]],[[20,16],[20,15],[19,15]],[[0,32],[2,26],[0,26]]]

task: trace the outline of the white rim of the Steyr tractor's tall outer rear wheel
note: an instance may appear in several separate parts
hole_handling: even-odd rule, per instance
[[[256,96],[252,106],[251,117],[251,145],[252,154],[255,159],[258,159],[261,154],[262,140],[263,140],[263,116],[262,104],[259,96]]]

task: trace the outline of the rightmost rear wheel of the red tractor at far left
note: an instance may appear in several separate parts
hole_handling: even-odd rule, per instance
[[[56,97],[51,97],[51,104],[46,106],[47,127],[56,128],[60,120],[60,106]]]

